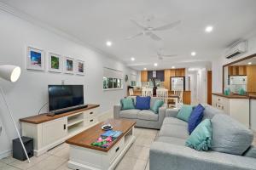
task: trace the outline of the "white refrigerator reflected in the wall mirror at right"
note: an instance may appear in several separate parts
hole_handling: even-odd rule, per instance
[[[247,92],[247,76],[230,77],[230,91],[238,93],[241,88]]]

